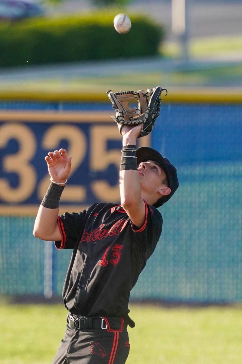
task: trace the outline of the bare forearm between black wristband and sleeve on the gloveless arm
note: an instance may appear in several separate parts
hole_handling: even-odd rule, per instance
[[[40,205],[34,222],[33,234],[36,238],[47,241],[60,240],[60,232],[57,223],[59,207],[48,209]]]

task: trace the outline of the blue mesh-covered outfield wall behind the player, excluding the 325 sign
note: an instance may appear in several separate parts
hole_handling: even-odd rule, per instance
[[[58,110],[60,105],[0,103],[0,108]],[[61,109],[111,111],[101,103],[63,103]],[[242,301],[241,115],[240,105],[162,106],[151,146],[177,167],[180,186],[160,209],[161,239],[131,298]],[[33,237],[33,222],[34,217],[0,217],[0,294],[44,294],[44,242]],[[53,249],[53,295],[61,295],[70,255]]]

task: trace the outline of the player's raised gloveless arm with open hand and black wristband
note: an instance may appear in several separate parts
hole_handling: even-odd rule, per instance
[[[71,169],[71,157],[67,158],[66,150],[49,152],[45,160],[50,175],[50,186],[38,210],[33,234],[41,240],[61,240],[57,223],[59,201]]]

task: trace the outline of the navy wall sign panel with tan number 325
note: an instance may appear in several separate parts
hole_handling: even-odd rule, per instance
[[[38,126],[38,127],[37,127]],[[40,133],[40,126],[43,131]],[[40,138],[37,138],[38,134]],[[72,157],[71,173],[69,175],[69,184],[65,186],[62,194],[62,201],[69,203],[89,203],[87,196],[88,187],[94,194],[96,201],[119,201],[119,181],[111,186],[107,179],[94,179],[89,186],[85,181],[82,185],[78,181],[71,182],[71,176],[79,171],[80,175],[87,174],[88,171],[82,170],[82,162],[87,156],[88,168],[91,172],[100,172],[107,170],[110,164],[113,164],[119,170],[120,164],[120,141],[121,136],[115,124],[110,122],[103,123],[52,123],[46,128],[45,123],[21,123],[7,122],[0,124],[0,150],[3,152],[8,146],[9,141],[14,139],[17,142],[17,152],[8,151],[1,158],[0,174],[0,199],[3,203],[38,203],[42,200],[50,183],[49,174],[46,173],[41,179],[40,170],[45,168],[44,160],[46,151],[60,149],[61,142],[67,142],[67,154]],[[140,138],[141,145],[149,145],[146,138]],[[38,141],[37,141],[38,140]],[[116,141],[117,147],[108,149],[108,141]],[[42,165],[34,163],[36,155],[42,153]],[[1,153],[2,154],[2,153]],[[8,174],[12,173],[17,176],[17,186],[11,186]],[[36,197],[32,198],[35,194]],[[90,201],[92,203],[93,201]]]

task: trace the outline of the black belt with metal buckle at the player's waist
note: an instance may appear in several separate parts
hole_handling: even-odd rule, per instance
[[[76,316],[69,312],[66,321],[71,329],[107,329],[107,324],[103,317]]]

